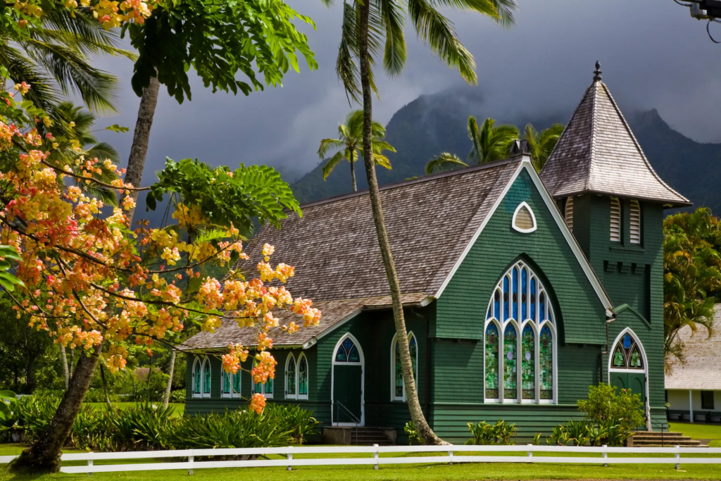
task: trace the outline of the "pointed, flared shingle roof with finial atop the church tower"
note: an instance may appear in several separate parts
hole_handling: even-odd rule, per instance
[[[541,171],[549,193],[554,198],[598,193],[690,205],[653,170],[599,69],[596,62],[593,84]]]

